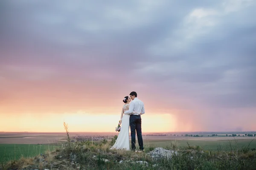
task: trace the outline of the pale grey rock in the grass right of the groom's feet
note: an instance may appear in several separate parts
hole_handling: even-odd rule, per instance
[[[173,154],[177,155],[178,153],[175,150],[166,150],[163,147],[157,147],[147,154],[151,156],[153,159],[172,159]]]

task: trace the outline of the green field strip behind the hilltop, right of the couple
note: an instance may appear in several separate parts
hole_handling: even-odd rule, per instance
[[[233,147],[236,147],[236,143],[234,142],[235,140],[231,140],[231,145]],[[237,146],[238,147],[247,147],[248,144],[252,141],[252,139],[243,139],[243,140],[237,140]],[[219,147],[225,147],[229,145],[228,140],[219,140],[219,141],[193,141],[193,140],[145,140],[144,139],[144,145],[145,147],[150,147],[152,144],[154,147],[169,147],[173,143],[177,144],[177,147],[187,147],[189,145],[191,146],[200,146],[204,150],[218,150]],[[253,140],[253,142],[250,143],[250,148],[256,148],[256,140]]]

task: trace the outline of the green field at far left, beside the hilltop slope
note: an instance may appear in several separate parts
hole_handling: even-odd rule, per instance
[[[58,146],[52,144],[0,144],[0,162],[17,160],[22,156],[37,156],[56,147]]]

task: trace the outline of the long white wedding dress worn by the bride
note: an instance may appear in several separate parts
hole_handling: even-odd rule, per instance
[[[124,114],[125,110],[129,109],[129,104],[125,104],[122,108],[122,124],[119,135],[116,139],[116,143],[111,147],[111,149],[125,149],[130,150],[129,141],[129,127],[130,127],[130,115]]]

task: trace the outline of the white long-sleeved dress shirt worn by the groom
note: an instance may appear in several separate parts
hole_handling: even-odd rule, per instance
[[[132,115],[140,115],[145,113],[144,103],[138,99],[137,97],[134,98],[133,101],[130,102],[129,110],[125,111],[125,114],[132,114]]]

